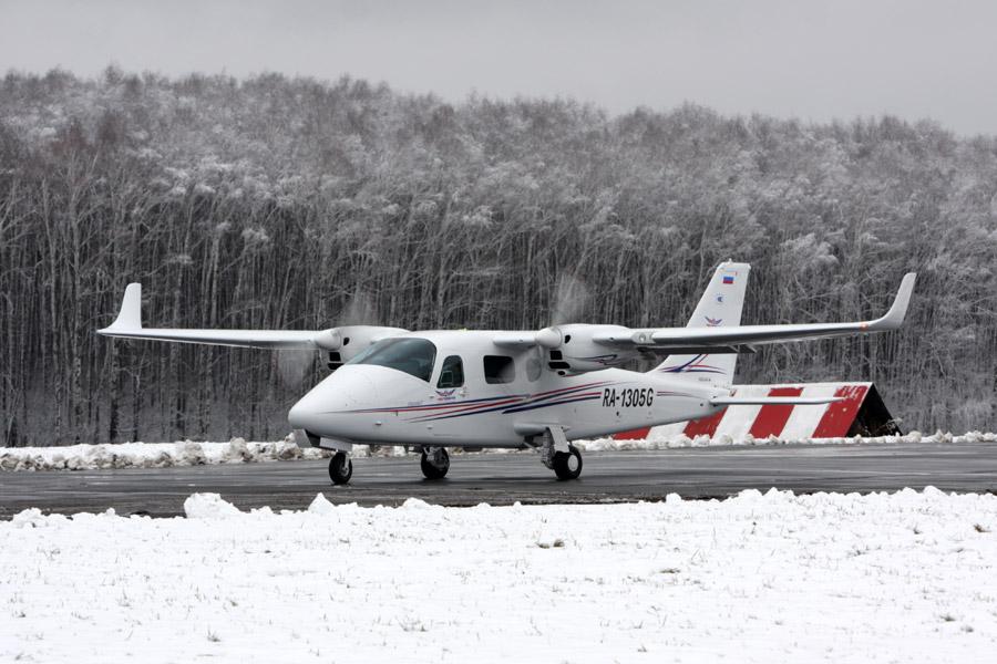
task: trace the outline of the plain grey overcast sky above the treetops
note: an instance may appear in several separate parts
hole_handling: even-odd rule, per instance
[[[994,0],[0,0],[0,70],[110,62],[997,134]]]

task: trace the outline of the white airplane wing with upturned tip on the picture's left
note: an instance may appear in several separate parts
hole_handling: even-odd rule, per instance
[[[356,325],[328,330],[189,330],[142,326],[142,284],[130,283],[125,288],[121,311],[111,325],[97,330],[97,334],[120,339],[151,339],[178,343],[241,346],[253,349],[338,351],[350,343],[350,333],[357,341],[371,343],[387,336],[402,334],[399,328]],[[359,346],[359,343],[353,344]],[[352,347],[352,346],[351,346]]]

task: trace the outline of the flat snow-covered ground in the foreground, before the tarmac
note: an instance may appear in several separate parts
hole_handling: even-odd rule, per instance
[[[985,662],[997,496],[0,523],[0,661]]]

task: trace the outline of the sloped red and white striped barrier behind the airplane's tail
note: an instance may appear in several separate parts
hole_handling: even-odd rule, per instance
[[[643,440],[649,437],[675,438],[686,435],[738,440],[775,436],[798,438],[841,438],[849,435],[872,383],[806,383],[795,385],[738,385],[734,396],[843,396],[844,400],[820,405],[738,405],[729,406],[702,419],[677,422],[631,432],[621,432],[617,440]]]

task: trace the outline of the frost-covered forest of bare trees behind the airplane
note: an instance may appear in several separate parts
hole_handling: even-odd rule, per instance
[[[8,445],[273,438],[305,353],[94,334],[148,324],[683,324],[753,263],[744,321],[906,329],[742,356],[739,382],[873,380],[907,429],[997,426],[997,139],[894,117],[448,104],[384,85],[109,69],[0,83]]]

